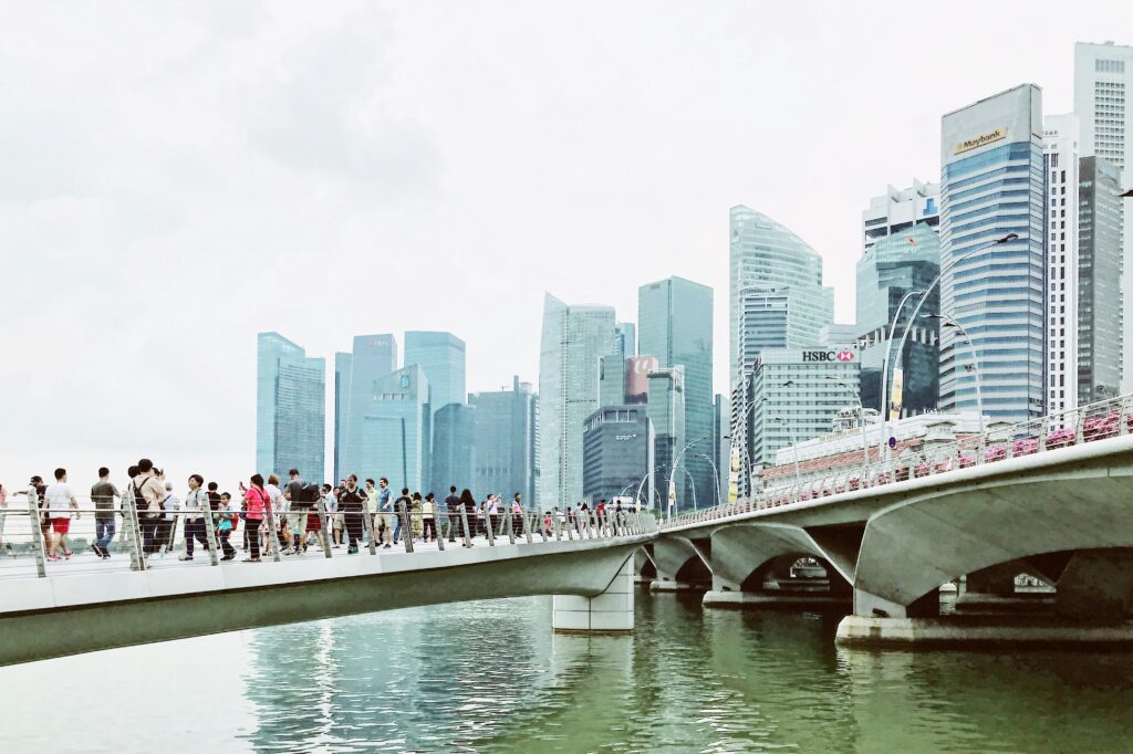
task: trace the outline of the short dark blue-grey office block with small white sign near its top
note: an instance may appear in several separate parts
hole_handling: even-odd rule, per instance
[[[603,406],[587,417],[582,430],[582,497],[591,506],[600,499],[638,498],[656,505],[653,425],[644,405]]]

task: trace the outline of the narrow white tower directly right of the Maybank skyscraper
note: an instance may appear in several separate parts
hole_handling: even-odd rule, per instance
[[[1077,406],[1079,120],[1047,115],[1042,152],[1047,180],[1047,377],[1045,413]]]

